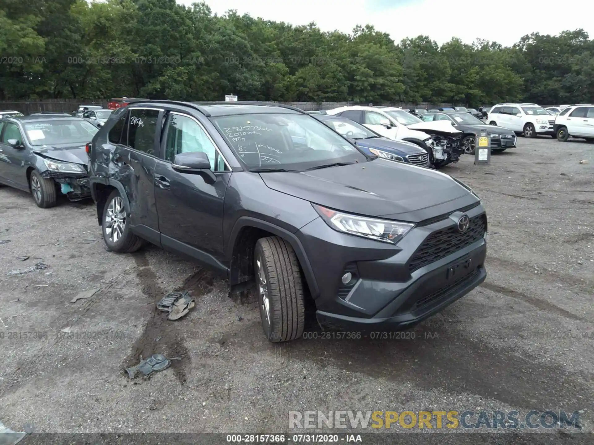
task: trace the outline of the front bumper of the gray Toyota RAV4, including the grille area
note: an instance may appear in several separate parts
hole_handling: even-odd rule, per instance
[[[465,213],[476,224],[463,243],[447,215],[413,228],[397,246],[339,233],[320,218],[307,224],[298,236],[320,288],[318,323],[342,330],[406,329],[469,293],[486,278],[486,215],[481,205]],[[434,246],[432,239],[438,240]],[[346,272],[354,284],[342,284]]]

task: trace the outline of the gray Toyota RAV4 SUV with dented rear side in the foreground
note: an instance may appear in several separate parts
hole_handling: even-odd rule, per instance
[[[89,145],[113,252],[146,241],[255,282],[270,341],[416,325],[486,277],[487,220],[465,184],[371,157],[279,104],[137,101]]]

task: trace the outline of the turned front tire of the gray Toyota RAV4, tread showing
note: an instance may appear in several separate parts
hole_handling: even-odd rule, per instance
[[[301,337],[305,326],[305,299],[299,261],[282,238],[256,243],[254,268],[264,334],[271,342]]]

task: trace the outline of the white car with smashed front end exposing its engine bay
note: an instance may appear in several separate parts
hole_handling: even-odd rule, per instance
[[[444,122],[424,122],[415,115],[396,107],[350,106],[326,110],[328,115],[342,116],[361,123],[385,138],[412,142],[424,148],[434,167],[455,163],[463,150],[453,147],[449,136],[462,132]]]

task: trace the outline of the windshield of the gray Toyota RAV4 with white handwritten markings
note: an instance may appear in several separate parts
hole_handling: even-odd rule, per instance
[[[367,160],[345,138],[309,115],[261,113],[211,120],[250,170],[302,171]]]

